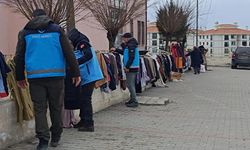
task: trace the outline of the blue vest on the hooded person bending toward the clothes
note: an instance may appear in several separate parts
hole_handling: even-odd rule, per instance
[[[96,53],[93,48],[91,48],[91,52],[93,55],[92,59],[80,65],[80,73],[82,79],[81,85],[102,80],[104,78],[99,62],[96,57]],[[75,57],[76,59],[84,57],[83,52],[81,50],[76,50]]]

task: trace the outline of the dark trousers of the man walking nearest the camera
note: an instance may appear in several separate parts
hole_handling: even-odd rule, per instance
[[[63,132],[64,79],[33,79],[29,80],[29,87],[35,111],[36,137],[49,141],[51,131],[52,139],[59,140]],[[48,107],[52,123],[50,129],[47,122]]]

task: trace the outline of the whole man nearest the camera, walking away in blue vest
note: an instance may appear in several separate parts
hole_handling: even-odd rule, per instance
[[[36,137],[39,138],[37,150],[48,149],[50,136],[51,146],[57,147],[63,132],[65,63],[69,64],[75,86],[81,82],[73,47],[63,29],[44,10],[37,9],[33,19],[19,32],[14,60],[20,88],[28,85],[26,70],[35,111]],[[47,122],[48,106],[51,128]]]

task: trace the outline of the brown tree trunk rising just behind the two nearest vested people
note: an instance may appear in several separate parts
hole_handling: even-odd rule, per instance
[[[75,24],[75,12],[74,12],[74,1],[73,0],[69,0],[69,6],[68,6],[68,11],[67,11],[67,16],[69,16],[66,25],[67,25],[67,32],[69,32],[70,30],[72,30],[73,28],[75,28],[76,24]]]

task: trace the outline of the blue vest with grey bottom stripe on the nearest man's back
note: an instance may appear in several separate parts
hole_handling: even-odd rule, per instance
[[[25,35],[25,67],[28,79],[64,77],[65,60],[59,31]]]

